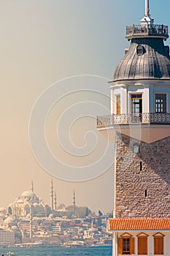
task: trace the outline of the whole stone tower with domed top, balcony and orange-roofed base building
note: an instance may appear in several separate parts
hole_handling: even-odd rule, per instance
[[[155,25],[145,0],[141,24],[125,37],[131,45],[109,82],[111,115],[97,118],[115,141],[112,255],[170,255],[168,27]]]

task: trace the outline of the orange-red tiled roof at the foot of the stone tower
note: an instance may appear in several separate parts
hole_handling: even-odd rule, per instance
[[[109,230],[170,230],[170,219],[109,219]]]

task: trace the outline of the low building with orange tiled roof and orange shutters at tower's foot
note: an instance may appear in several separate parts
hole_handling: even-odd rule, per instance
[[[109,230],[118,255],[169,255],[170,219],[109,219]]]

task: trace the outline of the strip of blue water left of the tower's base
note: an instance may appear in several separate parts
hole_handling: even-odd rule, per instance
[[[0,248],[0,256],[7,252],[15,256],[112,256],[112,248]]]

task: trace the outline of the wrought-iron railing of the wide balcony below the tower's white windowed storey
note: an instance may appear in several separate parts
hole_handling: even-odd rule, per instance
[[[97,116],[97,127],[112,127],[116,124],[170,124],[170,113]]]

